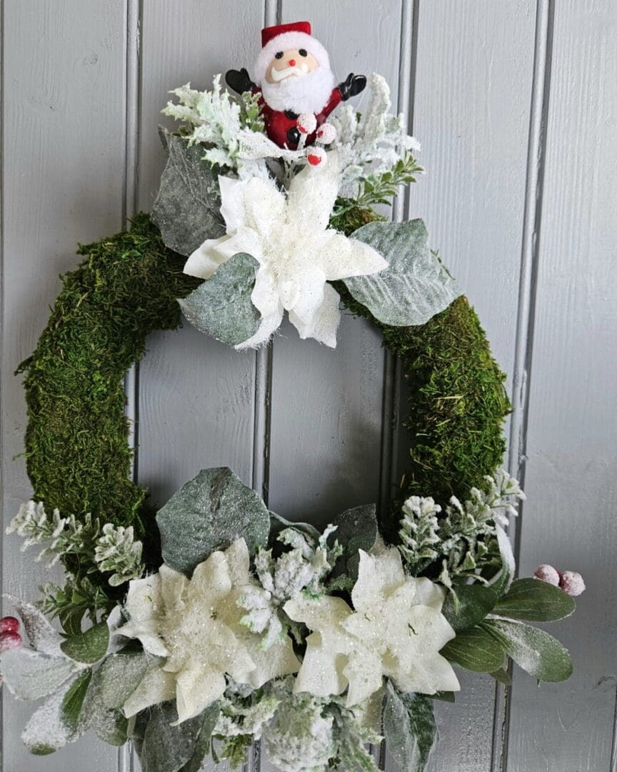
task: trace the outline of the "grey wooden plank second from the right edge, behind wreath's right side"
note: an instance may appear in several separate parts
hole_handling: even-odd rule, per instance
[[[534,25],[531,0],[419,5],[413,133],[427,174],[411,190],[408,216],[427,222],[430,244],[475,306],[507,372],[517,325]],[[403,451],[403,468],[404,459]],[[494,684],[467,672],[460,682],[455,705],[437,703],[433,772],[491,768]]]

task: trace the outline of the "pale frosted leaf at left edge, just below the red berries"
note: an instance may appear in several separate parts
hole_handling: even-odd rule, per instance
[[[18,699],[46,697],[75,671],[69,659],[47,657],[28,648],[13,648],[0,655],[3,682]]]

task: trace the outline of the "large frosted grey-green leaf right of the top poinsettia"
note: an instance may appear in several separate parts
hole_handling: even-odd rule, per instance
[[[343,279],[352,296],[380,322],[396,327],[425,324],[462,291],[427,245],[427,226],[411,222],[370,222],[353,233],[389,266],[371,276]]]

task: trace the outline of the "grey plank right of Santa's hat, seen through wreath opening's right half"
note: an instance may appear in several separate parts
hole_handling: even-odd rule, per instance
[[[283,2],[282,22],[310,19],[338,80],[381,73],[396,110],[400,2]],[[376,41],[379,41],[377,44]],[[354,100],[362,110],[368,95]],[[273,344],[270,506],[321,525],[378,500],[383,350],[364,320],[345,315],[335,350],[300,341],[288,323]]]

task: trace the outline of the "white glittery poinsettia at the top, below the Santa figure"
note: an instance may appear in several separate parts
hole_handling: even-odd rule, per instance
[[[218,181],[227,235],[205,241],[187,260],[184,273],[207,279],[238,252],[259,262],[251,300],[261,324],[236,348],[265,343],[285,310],[301,338],[335,347],[340,298],[328,282],[369,276],[387,266],[373,247],[328,227],[339,191],[335,154],[325,168],[306,166],[296,174],[286,195],[261,178]]]

